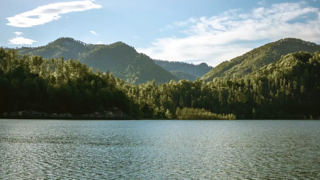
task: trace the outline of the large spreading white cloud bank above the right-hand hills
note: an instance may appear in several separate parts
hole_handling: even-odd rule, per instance
[[[320,42],[320,11],[305,2],[273,4],[247,13],[229,10],[173,25],[186,26],[182,31],[185,37],[159,38],[137,51],[154,59],[204,61],[216,66],[265,42],[285,37]]]

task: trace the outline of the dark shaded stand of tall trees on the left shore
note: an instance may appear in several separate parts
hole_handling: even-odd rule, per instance
[[[18,56],[15,50],[0,48],[0,113],[35,110],[82,115],[121,110],[139,116],[139,105],[116,88],[112,73],[94,73],[71,59]]]

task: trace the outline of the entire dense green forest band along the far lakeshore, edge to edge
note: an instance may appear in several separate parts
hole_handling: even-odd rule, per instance
[[[0,111],[121,111],[149,119],[312,119],[320,116],[319,68],[319,52],[297,52],[243,77],[137,85],[110,72],[94,72],[77,60],[20,56],[1,48]]]

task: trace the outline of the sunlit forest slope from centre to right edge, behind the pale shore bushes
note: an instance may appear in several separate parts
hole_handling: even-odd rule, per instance
[[[122,82],[118,86],[156,117],[165,117],[167,110],[172,113],[179,107],[232,113],[237,119],[318,118],[319,68],[319,52],[299,52],[244,77],[221,77],[208,83],[180,80],[159,86]]]

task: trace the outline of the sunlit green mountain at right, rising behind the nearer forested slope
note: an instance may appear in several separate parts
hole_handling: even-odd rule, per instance
[[[282,55],[299,51],[320,51],[320,45],[296,38],[284,38],[253,49],[230,61],[224,61],[206,73],[201,79],[212,81],[213,78],[244,76],[264,65],[276,62]]]

